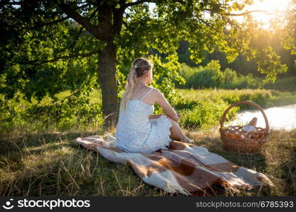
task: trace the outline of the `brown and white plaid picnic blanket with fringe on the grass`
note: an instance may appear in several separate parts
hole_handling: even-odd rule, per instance
[[[94,149],[112,162],[128,163],[144,182],[169,193],[200,196],[214,184],[232,193],[239,193],[238,188],[273,186],[263,173],[235,165],[207,148],[191,143],[172,141],[168,150],[126,153],[116,147],[116,138],[111,134],[106,140],[95,135],[78,137],[75,142]]]

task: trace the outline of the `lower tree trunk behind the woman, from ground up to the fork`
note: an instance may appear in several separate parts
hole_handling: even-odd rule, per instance
[[[99,54],[99,85],[102,90],[104,129],[115,127],[118,118],[118,93],[116,85],[116,46],[107,43]]]

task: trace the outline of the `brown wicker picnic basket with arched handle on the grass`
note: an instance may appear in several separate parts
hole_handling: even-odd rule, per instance
[[[257,107],[258,110],[260,110],[265,119],[265,129],[256,126],[255,130],[253,131],[244,131],[243,126],[224,126],[224,120],[227,112],[229,112],[232,107],[241,104],[253,105],[254,107]],[[223,148],[226,151],[240,154],[260,153],[263,143],[267,141],[269,134],[268,119],[263,109],[255,102],[236,102],[230,105],[222,115],[219,131],[221,134],[221,140],[224,143]]]

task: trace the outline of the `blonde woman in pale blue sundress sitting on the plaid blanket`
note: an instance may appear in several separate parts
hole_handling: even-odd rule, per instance
[[[153,80],[152,71],[152,62],[143,57],[131,65],[116,126],[116,146],[123,151],[150,153],[168,149],[172,139],[192,143],[177,123],[180,114],[160,90],[148,86]],[[155,102],[165,114],[153,114]]]

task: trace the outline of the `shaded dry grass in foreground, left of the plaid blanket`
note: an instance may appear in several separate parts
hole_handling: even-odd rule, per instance
[[[96,132],[95,134],[97,134]],[[74,143],[81,134],[1,137],[1,196],[158,196],[128,165]]]

